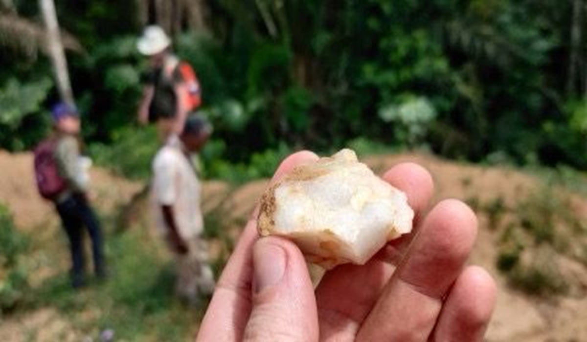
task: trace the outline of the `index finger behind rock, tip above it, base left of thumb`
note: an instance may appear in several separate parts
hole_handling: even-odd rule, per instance
[[[296,165],[318,157],[301,151],[286,158],[274,180],[291,171]],[[257,212],[258,209],[255,209]],[[214,296],[198,331],[197,340],[240,341],[251,312],[252,246],[257,240],[257,216],[249,219],[235,250],[222,271]]]

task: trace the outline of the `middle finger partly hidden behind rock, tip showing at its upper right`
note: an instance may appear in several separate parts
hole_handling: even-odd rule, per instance
[[[428,205],[433,182],[424,168],[400,164],[383,178],[406,193],[416,215]],[[366,265],[341,265],[326,273],[316,289],[321,340],[354,340],[360,324],[393,274],[395,266],[389,259],[396,258],[399,258],[396,247],[386,246]]]

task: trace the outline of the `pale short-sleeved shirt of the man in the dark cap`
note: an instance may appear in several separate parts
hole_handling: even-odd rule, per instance
[[[170,136],[153,160],[153,198],[156,204],[157,225],[168,233],[161,205],[170,205],[176,219],[178,233],[184,240],[200,235],[204,220],[200,208],[201,184],[185,148],[177,136]]]

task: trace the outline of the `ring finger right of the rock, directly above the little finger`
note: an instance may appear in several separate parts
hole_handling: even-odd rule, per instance
[[[428,340],[442,299],[460,275],[476,233],[477,219],[466,205],[440,202],[424,220],[357,340]]]

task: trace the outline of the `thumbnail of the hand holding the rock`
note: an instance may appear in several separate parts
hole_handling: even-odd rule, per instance
[[[285,250],[274,243],[261,239],[255,244],[253,250],[255,293],[262,292],[281,281],[285,273],[285,259]]]

